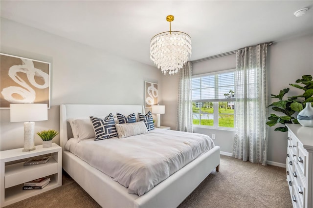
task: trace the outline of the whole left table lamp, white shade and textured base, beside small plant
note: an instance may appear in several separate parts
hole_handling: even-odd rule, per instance
[[[24,122],[24,149],[23,152],[35,150],[34,121],[48,120],[47,104],[10,104],[11,122]]]

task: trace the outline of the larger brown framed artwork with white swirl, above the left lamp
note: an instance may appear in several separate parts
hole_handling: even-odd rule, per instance
[[[0,108],[13,103],[50,108],[50,63],[0,53]]]

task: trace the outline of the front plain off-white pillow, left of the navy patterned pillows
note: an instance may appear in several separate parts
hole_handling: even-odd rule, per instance
[[[77,131],[78,142],[95,137],[90,119],[76,119],[73,121],[73,125]]]

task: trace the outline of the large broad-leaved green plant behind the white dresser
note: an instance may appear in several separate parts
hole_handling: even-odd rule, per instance
[[[276,124],[282,124],[275,128],[275,131],[288,131],[286,124],[299,124],[297,119],[293,117],[294,113],[300,112],[306,105],[306,103],[313,102],[313,80],[311,75],[304,75],[302,79],[296,80],[297,84],[290,84],[293,87],[304,90],[302,95],[288,97],[287,100],[283,100],[285,94],[289,92],[289,88],[285,88],[279,91],[278,95],[271,94],[271,98],[278,98],[278,102],[274,102],[268,107],[273,106],[274,111],[285,114],[283,116],[278,116],[276,114],[270,114],[268,117],[268,122],[266,123],[269,126],[274,126]],[[301,84],[301,85],[299,85]]]

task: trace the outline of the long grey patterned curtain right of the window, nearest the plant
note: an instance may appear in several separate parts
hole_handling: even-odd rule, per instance
[[[235,139],[232,155],[252,163],[267,164],[267,44],[236,53]]]

